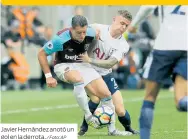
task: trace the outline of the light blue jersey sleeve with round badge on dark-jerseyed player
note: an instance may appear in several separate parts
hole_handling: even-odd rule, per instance
[[[43,49],[47,55],[51,55],[57,51],[63,51],[63,40],[58,35],[55,35],[52,40],[48,41]]]

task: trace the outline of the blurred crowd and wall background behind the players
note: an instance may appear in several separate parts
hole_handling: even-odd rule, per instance
[[[1,90],[43,90],[45,77],[37,52],[59,30],[69,27],[73,15],[87,17],[89,23],[111,24],[116,12],[130,11],[133,18],[139,6],[2,6],[1,5]],[[121,89],[143,89],[142,73],[158,32],[157,9],[138,28],[124,34],[131,49],[114,66],[113,74]],[[53,69],[53,56],[48,57]],[[147,62],[146,62],[147,63]],[[54,75],[55,76],[55,75]],[[59,81],[63,89],[72,85]],[[169,88],[167,81],[164,88]]]

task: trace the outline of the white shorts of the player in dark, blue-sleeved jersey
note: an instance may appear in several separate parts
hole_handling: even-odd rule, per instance
[[[64,74],[70,70],[80,72],[82,78],[84,79],[85,86],[91,81],[101,77],[101,75],[95,69],[93,69],[90,64],[86,63],[61,63],[54,66],[55,74],[64,82],[68,82],[65,79]]]

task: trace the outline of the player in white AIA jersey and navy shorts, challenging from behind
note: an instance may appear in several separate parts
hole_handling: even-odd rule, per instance
[[[125,110],[123,98],[119,87],[111,74],[112,67],[117,64],[129,51],[129,45],[122,34],[126,31],[131,23],[132,16],[126,10],[118,11],[113,19],[112,25],[92,24],[99,31],[99,41],[94,42],[91,49],[88,50],[88,55],[82,55],[81,60],[88,62],[98,71],[106,82],[111,94],[115,110],[120,123],[132,134],[137,134],[131,128],[131,118],[129,112]],[[99,104],[99,98],[90,94],[89,108],[93,113]],[[88,130],[87,123],[83,121],[79,131],[79,135],[83,136]],[[109,133],[109,135],[118,135],[118,133]]]

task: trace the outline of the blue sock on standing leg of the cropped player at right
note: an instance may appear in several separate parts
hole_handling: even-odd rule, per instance
[[[145,100],[142,105],[139,118],[140,139],[150,139],[150,131],[153,122],[154,103]]]

